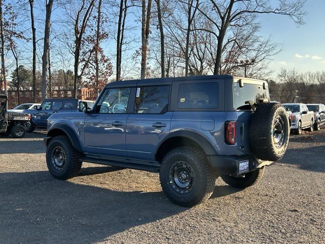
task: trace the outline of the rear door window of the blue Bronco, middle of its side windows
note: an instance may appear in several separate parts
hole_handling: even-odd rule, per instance
[[[169,86],[142,86],[137,88],[135,113],[165,113],[168,111]]]

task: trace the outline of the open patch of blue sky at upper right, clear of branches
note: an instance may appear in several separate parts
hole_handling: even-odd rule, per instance
[[[291,19],[279,15],[262,15],[261,36],[272,35],[283,45],[270,68],[278,73],[281,68],[299,72],[325,70],[324,0],[308,0],[305,5],[305,24],[297,27]]]

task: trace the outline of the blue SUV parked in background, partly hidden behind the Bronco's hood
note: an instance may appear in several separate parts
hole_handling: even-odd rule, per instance
[[[38,109],[24,110],[25,113],[30,113],[31,120],[26,122],[25,128],[27,132],[32,132],[35,128],[46,128],[47,119],[57,112],[78,111],[78,99],[46,99]],[[93,104],[93,101],[86,101],[88,107]]]

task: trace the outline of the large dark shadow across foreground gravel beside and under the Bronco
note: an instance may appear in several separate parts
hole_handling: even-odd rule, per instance
[[[105,168],[105,169],[104,169]],[[83,175],[116,170],[84,168]],[[95,243],[187,208],[162,192],[118,192],[54,179],[48,171],[0,173],[0,243]]]

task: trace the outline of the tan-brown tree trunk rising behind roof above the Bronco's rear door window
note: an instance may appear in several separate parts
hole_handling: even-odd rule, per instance
[[[141,21],[141,43],[142,43],[142,55],[141,55],[141,79],[146,78],[147,67],[147,50],[148,40],[150,32],[150,15],[151,15],[151,0],[148,0],[147,13],[146,13],[146,0],[142,0],[142,21]]]

